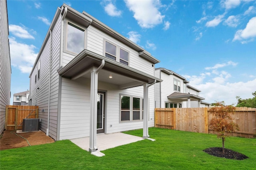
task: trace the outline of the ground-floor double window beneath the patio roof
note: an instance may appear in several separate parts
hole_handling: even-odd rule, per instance
[[[132,96],[120,96],[121,121],[138,121],[143,119],[143,99]],[[132,100],[132,101],[131,101]],[[141,109],[142,108],[142,109]]]

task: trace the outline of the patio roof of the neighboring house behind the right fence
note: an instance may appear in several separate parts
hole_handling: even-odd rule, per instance
[[[173,100],[174,102],[178,102],[178,103],[188,101],[188,98],[190,98],[190,101],[204,100],[204,98],[202,98],[200,96],[196,96],[194,94],[186,94],[186,93],[178,93],[178,92],[174,92],[174,93],[170,94],[169,96],[167,96],[167,98]]]

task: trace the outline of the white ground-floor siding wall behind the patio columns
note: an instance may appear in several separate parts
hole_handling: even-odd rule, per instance
[[[106,91],[105,133],[141,129],[143,121],[120,122],[120,94],[143,98],[143,86],[126,90],[106,82],[98,82],[98,90]],[[149,88],[149,127],[154,127],[154,87]],[[60,140],[90,135],[90,79],[62,78]],[[132,112],[131,112],[132,114]],[[112,127],[110,127],[112,125]]]

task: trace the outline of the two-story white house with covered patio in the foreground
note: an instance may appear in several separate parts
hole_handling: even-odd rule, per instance
[[[57,9],[30,73],[29,104],[55,140],[154,126],[160,61],[86,12]]]

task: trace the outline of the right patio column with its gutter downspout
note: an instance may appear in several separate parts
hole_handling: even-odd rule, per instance
[[[150,139],[149,135],[148,135],[148,88],[150,86],[152,86],[153,84],[156,83],[156,80],[151,83],[151,84],[147,84],[147,83],[144,83],[144,118],[143,118],[143,138],[144,139]],[[146,109],[146,110],[145,110]],[[154,139],[150,139],[152,141],[155,141]]]

